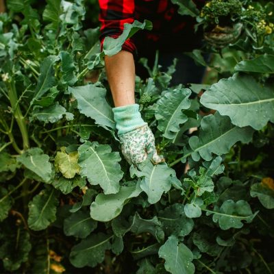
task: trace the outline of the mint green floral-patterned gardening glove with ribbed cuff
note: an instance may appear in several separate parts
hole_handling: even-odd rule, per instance
[[[153,164],[164,162],[162,155],[158,155],[156,151],[151,129],[141,117],[139,105],[124,105],[112,110],[125,160],[139,167],[147,159],[147,155],[151,154]]]

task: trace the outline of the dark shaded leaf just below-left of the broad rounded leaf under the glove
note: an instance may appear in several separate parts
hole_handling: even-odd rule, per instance
[[[97,221],[92,220],[87,211],[80,210],[64,219],[64,234],[66,236],[86,238],[96,227]]]

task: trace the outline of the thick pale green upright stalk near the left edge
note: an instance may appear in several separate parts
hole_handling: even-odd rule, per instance
[[[18,127],[22,135],[23,151],[25,151],[29,149],[29,135],[27,133],[27,126],[26,126],[23,114],[21,112],[20,105],[17,104],[18,98],[17,98],[14,79],[11,79],[10,82],[8,83],[8,96],[10,99],[10,104],[12,106],[14,118],[18,124]]]

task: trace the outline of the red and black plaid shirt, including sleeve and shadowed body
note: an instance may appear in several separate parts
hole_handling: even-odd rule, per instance
[[[197,8],[201,8],[205,0],[193,0]],[[153,23],[153,31],[146,32],[146,38],[154,42],[161,41],[174,43],[176,36],[182,33],[194,33],[195,19],[190,16],[180,16],[177,13],[177,5],[169,0],[99,0],[101,22],[100,40],[106,36],[117,38],[123,32],[125,23],[133,23],[134,20],[148,19]],[[142,41],[144,42],[144,41]],[[177,41],[178,42],[178,41]],[[123,49],[132,53],[136,52],[136,40],[129,38],[123,45]]]

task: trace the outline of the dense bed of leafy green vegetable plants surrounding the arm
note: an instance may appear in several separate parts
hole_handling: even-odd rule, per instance
[[[97,1],[41,2],[0,14],[0,273],[273,274],[272,1],[173,0],[208,72],[171,86],[176,62],[155,58],[136,77],[166,159],[142,171],[121,157],[103,57],[151,22],[100,52]]]

